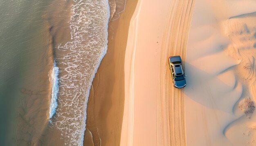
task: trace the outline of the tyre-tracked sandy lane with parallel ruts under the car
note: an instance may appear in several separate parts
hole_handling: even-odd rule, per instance
[[[195,0],[173,0],[169,8],[159,65],[157,144],[185,146],[184,89],[174,88],[168,57],[186,59],[186,46]],[[184,64],[186,65],[186,64]]]

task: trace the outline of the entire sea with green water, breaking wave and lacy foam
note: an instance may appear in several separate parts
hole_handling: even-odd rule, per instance
[[[108,0],[0,1],[1,146],[83,145],[109,18]]]

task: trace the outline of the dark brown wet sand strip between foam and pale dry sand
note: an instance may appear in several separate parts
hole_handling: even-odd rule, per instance
[[[86,146],[120,144],[124,111],[124,56],[130,18],[136,4],[137,0],[127,0],[120,17],[112,17],[109,23],[108,51],[94,77],[88,101],[84,137]],[[121,9],[117,8],[116,11]]]

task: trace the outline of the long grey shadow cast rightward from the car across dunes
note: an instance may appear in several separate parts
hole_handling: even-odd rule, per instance
[[[220,73],[211,74],[207,73],[206,71],[203,71],[202,69],[199,69],[196,66],[196,64],[185,62],[185,72],[187,75],[185,95],[189,97],[191,100],[199,104],[202,104],[207,108],[212,108],[223,112],[229,112],[227,111],[226,107],[222,107],[222,102],[227,100],[225,99],[225,96],[227,96],[227,94],[236,93],[236,97],[231,97],[233,101],[228,103],[230,107],[230,112],[234,112],[234,107],[238,105],[237,103],[242,97],[240,96],[239,93],[240,90],[237,90],[238,78],[235,78],[234,85],[232,86],[226,84],[225,82],[217,78],[218,75],[226,73],[227,71],[233,68],[234,66],[230,66],[224,71],[221,71]],[[217,82],[218,84],[214,85],[212,82]],[[218,85],[221,85],[221,87],[218,87]],[[217,86],[217,88],[213,88],[214,86]],[[222,91],[221,93],[219,93],[220,90]]]

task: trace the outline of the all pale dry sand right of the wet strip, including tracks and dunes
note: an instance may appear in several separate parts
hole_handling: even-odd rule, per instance
[[[138,2],[126,46],[121,146],[256,145],[256,14],[247,14],[256,1],[196,0],[190,31],[189,9],[189,0]],[[179,53],[188,75],[185,136],[184,92],[168,86],[166,67],[168,55]]]

